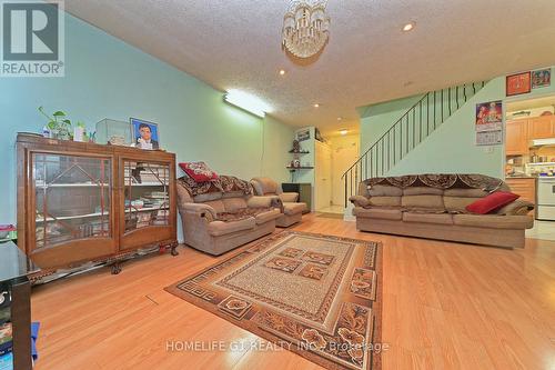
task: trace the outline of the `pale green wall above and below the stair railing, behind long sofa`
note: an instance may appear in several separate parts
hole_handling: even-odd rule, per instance
[[[401,160],[387,174],[407,174],[424,172],[477,172],[493,177],[504,177],[504,144],[478,147],[475,144],[476,103],[493,100],[525,100],[555,93],[555,86],[532,90],[531,93],[513,98],[505,97],[505,76],[486,83],[466,104],[441,124],[427,139],[422,141]],[[415,99],[415,100],[413,100]],[[370,148],[386,129],[398,119],[417,97],[395,100],[369,107],[367,114],[361,118],[361,152]],[[371,112],[376,112],[371,114]],[[387,117],[391,116],[391,117]],[[383,118],[386,119],[383,119]],[[385,123],[386,121],[390,123]]]

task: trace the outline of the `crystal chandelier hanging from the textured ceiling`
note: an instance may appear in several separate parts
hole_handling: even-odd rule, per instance
[[[309,58],[317,53],[330,36],[326,1],[296,0],[283,17],[283,46],[295,57]]]

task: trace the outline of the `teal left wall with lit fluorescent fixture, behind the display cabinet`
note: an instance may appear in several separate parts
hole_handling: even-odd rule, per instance
[[[0,223],[16,221],[16,136],[41,130],[39,106],[89,128],[103,118],[158,122],[161,146],[178,161],[203,160],[243,179],[290,180],[293,128],[224,103],[222,92],[71,16],[65,59],[64,78],[0,79]]]

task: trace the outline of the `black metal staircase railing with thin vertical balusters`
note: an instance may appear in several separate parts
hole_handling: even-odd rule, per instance
[[[424,94],[343,173],[345,208],[349,198],[356,194],[360,181],[385,176],[485,83],[474,82]]]

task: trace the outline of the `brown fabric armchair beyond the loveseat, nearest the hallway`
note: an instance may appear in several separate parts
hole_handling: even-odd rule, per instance
[[[251,180],[256,196],[278,197],[282,203],[282,214],[275,224],[280,228],[289,228],[293,223],[301,222],[306,203],[299,202],[297,192],[283,192],[281,186],[270,178],[254,178]]]

